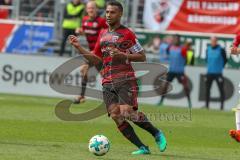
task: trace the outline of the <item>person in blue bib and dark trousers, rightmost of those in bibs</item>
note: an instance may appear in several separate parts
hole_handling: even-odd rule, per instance
[[[223,110],[224,103],[224,78],[222,76],[223,68],[227,63],[226,51],[218,43],[216,37],[211,37],[211,45],[208,46],[207,51],[207,77],[206,77],[206,107],[209,108],[210,89],[212,82],[216,80],[219,91],[221,110]]]

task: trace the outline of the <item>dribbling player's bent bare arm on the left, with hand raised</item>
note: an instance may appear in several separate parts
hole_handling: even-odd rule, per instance
[[[97,65],[102,62],[101,58],[83,48],[76,36],[70,35],[69,42],[78,50],[79,54],[82,54],[90,63]]]

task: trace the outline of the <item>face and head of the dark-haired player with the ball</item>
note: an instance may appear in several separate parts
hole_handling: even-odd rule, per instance
[[[122,12],[117,6],[108,5],[106,8],[106,19],[110,26],[114,26],[119,23],[122,17]]]

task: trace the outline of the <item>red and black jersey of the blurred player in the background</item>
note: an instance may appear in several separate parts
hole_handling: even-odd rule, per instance
[[[106,20],[102,17],[97,16],[95,19],[90,19],[89,16],[83,17],[82,30],[86,35],[90,51],[94,49],[101,29],[107,27]]]

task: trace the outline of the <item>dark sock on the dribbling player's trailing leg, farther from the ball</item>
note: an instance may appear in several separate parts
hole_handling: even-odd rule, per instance
[[[138,118],[135,121],[133,121],[133,123],[139,126],[140,128],[148,131],[150,134],[152,134],[153,137],[155,137],[159,132],[159,130],[156,127],[154,127],[152,123],[149,122],[147,117],[142,112],[138,113]]]

